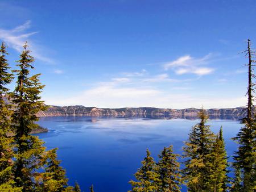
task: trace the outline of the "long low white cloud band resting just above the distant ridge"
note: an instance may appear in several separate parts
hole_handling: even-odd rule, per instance
[[[223,108],[246,105],[246,97],[198,98],[189,94],[168,93],[154,88],[97,86],[69,98],[44,98],[47,105],[87,107]]]

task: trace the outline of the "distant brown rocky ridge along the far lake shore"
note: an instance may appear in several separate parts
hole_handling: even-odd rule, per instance
[[[197,117],[199,108],[154,108],[154,107],[127,107],[127,108],[97,108],[77,106],[49,106],[47,111],[40,111],[39,117],[43,116],[170,116],[172,118]],[[246,116],[246,107],[236,108],[210,108],[206,110],[209,116],[214,118],[236,117],[243,118]]]

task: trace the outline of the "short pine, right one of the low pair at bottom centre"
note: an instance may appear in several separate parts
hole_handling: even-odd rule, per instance
[[[159,174],[159,191],[180,191],[181,189],[181,174],[180,164],[177,162],[177,157],[170,147],[164,147],[159,161],[156,166],[157,173]]]

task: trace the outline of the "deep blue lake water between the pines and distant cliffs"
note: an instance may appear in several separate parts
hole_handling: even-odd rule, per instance
[[[40,126],[49,129],[38,136],[47,149],[59,148],[58,158],[67,171],[69,184],[79,182],[82,191],[94,185],[96,192],[130,190],[133,174],[141,166],[146,149],[158,160],[165,146],[182,152],[183,141],[199,120],[148,118],[47,117]],[[236,151],[231,140],[241,127],[236,120],[210,120],[213,132],[223,127],[228,155]],[[185,191],[185,189],[183,189]]]

